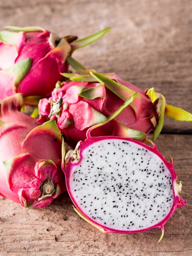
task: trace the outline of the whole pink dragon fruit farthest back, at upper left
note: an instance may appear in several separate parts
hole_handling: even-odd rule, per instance
[[[41,27],[5,27],[0,31],[0,99],[16,92],[38,99],[51,94],[56,82],[64,80],[60,72],[68,72],[67,57],[108,30],[76,40],[76,36],[60,38]]]

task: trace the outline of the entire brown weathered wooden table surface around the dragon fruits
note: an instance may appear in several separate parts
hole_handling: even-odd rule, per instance
[[[36,25],[78,38],[112,27],[74,57],[142,89],[154,86],[167,103],[192,112],[191,0],[0,0],[0,29],[5,25]],[[160,229],[101,234],[74,212],[67,193],[42,210],[0,198],[0,256],[192,255],[192,122],[165,118],[156,145],[173,158],[188,201],[166,223],[161,243]]]

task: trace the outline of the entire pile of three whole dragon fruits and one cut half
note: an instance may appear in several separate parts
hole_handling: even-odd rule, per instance
[[[72,57],[107,31],[83,39],[41,27],[0,31],[0,195],[42,209],[67,191],[74,210],[103,233],[157,227],[160,241],[186,201],[172,159],[153,141],[164,116],[192,114],[154,88]]]

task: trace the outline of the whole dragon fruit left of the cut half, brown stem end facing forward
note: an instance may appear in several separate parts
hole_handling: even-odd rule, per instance
[[[22,94],[0,105],[0,195],[32,209],[47,207],[66,190],[61,134],[56,122],[40,125],[20,112]]]

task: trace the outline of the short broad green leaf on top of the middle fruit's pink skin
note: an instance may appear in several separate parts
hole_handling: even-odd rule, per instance
[[[78,95],[85,99],[105,99],[105,86],[104,84],[100,83],[98,86],[82,90]]]

